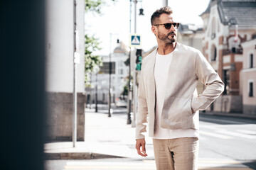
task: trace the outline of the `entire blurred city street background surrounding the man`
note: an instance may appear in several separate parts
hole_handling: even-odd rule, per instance
[[[255,0],[1,2],[4,169],[156,169],[151,138],[144,159],[134,136],[161,6],[225,83],[200,113],[198,169],[256,169]]]

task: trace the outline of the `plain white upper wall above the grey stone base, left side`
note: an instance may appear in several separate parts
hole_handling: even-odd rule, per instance
[[[77,0],[77,28],[80,34],[80,64],[77,90],[84,90],[84,6]],[[46,1],[46,91],[73,92],[73,1]]]

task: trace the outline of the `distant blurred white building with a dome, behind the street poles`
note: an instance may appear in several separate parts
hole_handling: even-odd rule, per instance
[[[87,103],[95,103],[96,100],[96,84],[97,84],[97,103],[108,103],[109,101],[109,89],[111,84],[111,103],[115,103],[117,98],[122,96],[124,86],[127,84],[129,76],[129,66],[124,62],[129,57],[129,51],[123,42],[114,49],[114,52],[110,55],[102,56],[103,67],[97,74],[92,74],[92,88],[87,89],[87,95],[89,100]],[[109,63],[112,62],[112,74],[110,83]]]

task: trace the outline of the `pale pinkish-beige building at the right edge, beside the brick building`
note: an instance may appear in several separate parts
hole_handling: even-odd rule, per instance
[[[256,39],[242,42],[242,71],[240,72],[240,94],[244,114],[256,115]]]

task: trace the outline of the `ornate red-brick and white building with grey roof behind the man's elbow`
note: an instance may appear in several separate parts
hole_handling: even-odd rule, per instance
[[[255,0],[212,0],[203,18],[203,55],[225,83],[225,91],[209,108],[211,111],[242,113],[240,71],[241,42],[256,35]]]

